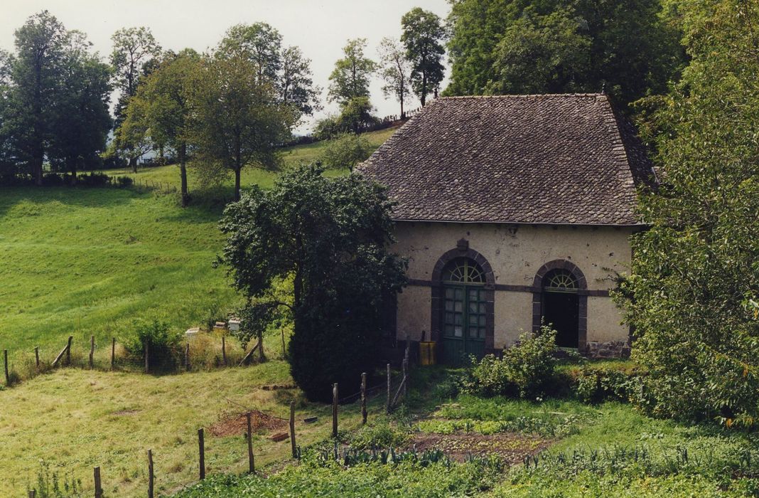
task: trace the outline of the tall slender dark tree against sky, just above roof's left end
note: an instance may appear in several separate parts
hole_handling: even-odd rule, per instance
[[[445,54],[442,38],[446,32],[440,17],[419,7],[404,14],[401,26],[401,41],[406,47],[406,57],[411,62],[411,84],[424,106],[427,95],[437,96],[442,81],[442,56]]]

